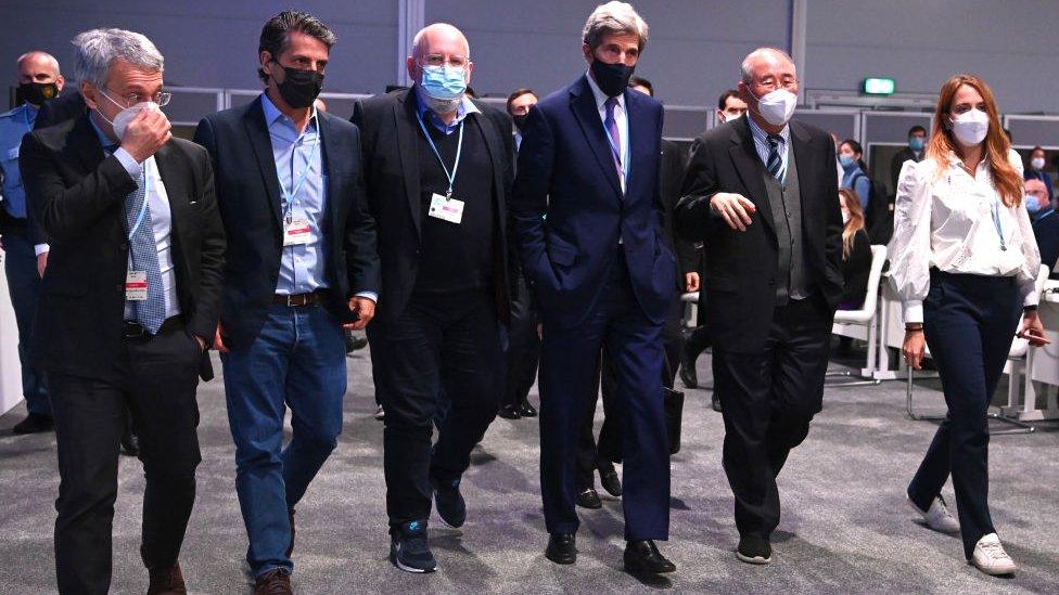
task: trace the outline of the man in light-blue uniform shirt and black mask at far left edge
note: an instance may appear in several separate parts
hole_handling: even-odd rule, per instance
[[[3,180],[0,242],[7,256],[4,273],[18,327],[22,394],[28,411],[26,418],[12,428],[18,435],[48,431],[53,426],[43,375],[29,361],[40,277],[48,264],[49,247],[44,234],[33,224],[29,216],[26,189],[18,171],[18,154],[22,138],[33,130],[37,113],[59,95],[66,81],[59,72],[59,61],[41,51],[18,56],[15,67],[18,70],[17,95],[24,103],[0,114],[0,178]]]

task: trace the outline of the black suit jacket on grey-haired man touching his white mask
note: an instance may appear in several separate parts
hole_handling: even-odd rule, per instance
[[[171,210],[180,311],[189,332],[209,340],[225,264],[209,157],[181,139],[166,143],[154,157]],[[48,372],[110,378],[123,340],[129,251],[125,197],[136,182],[116,157],[103,157],[88,115],[27,134],[18,167],[34,218],[51,240],[33,361]],[[212,377],[206,353],[200,373]]]

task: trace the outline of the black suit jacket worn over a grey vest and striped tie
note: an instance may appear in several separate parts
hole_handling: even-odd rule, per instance
[[[749,117],[749,116],[748,116]],[[842,296],[842,211],[839,209],[834,142],[827,132],[790,122],[791,150],[802,194],[806,273],[833,310]],[[735,352],[764,349],[776,303],[779,260],[775,223],[765,190],[765,166],[747,118],[699,139],[677,205],[677,233],[703,242],[706,325],[714,344]],[[732,192],[757,207],[747,231],[730,229],[710,210],[710,198]]]

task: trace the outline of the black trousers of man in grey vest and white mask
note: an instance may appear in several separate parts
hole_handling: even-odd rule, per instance
[[[819,297],[791,301],[773,313],[761,352],[714,347],[714,390],[725,418],[723,463],[740,535],[768,539],[779,525],[776,477],[820,411],[832,315]]]

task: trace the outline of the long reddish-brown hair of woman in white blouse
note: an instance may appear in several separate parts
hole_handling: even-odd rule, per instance
[[[956,92],[965,85],[982,95],[982,101],[985,103],[985,114],[990,117],[990,130],[985,134],[984,141],[984,158],[993,168],[993,185],[1005,205],[1009,207],[1019,206],[1022,204],[1022,176],[1008,161],[1011,142],[1000,127],[1000,117],[997,113],[993,90],[979,77],[968,74],[955,75],[946,80],[945,85],[942,85],[942,90],[937,94],[937,107],[934,109],[934,130],[931,133],[930,142],[927,143],[927,157],[937,161],[939,172],[941,172],[949,165],[949,153],[962,156],[962,147],[956,142],[956,138],[949,129],[948,118],[952,115],[949,114],[949,106],[956,98]]]

